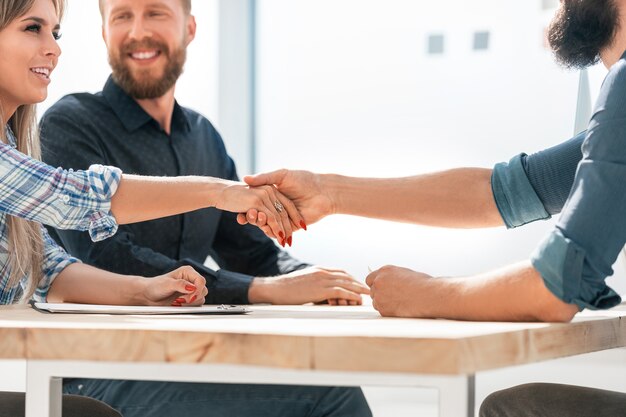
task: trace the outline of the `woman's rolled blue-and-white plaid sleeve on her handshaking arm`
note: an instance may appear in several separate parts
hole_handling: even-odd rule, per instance
[[[0,144],[0,210],[59,229],[88,230],[94,241],[117,231],[111,198],[121,177],[118,168],[102,165],[53,168]]]

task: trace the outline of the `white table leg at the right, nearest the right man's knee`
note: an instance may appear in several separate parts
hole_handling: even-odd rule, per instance
[[[474,375],[450,377],[439,385],[439,417],[474,417]]]

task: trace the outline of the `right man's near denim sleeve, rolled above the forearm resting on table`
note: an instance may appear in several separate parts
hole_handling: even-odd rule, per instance
[[[555,229],[531,261],[547,288],[580,308],[621,298],[605,279],[626,243],[626,63],[609,72],[582,147],[572,191]]]

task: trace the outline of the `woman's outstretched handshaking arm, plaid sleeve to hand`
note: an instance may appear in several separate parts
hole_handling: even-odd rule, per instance
[[[274,187],[256,190],[211,177],[122,176],[118,169],[103,166],[67,171],[4,143],[0,143],[0,177],[1,211],[63,229],[90,229],[96,239],[114,233],[115,222],[139,222],[205,207],[259,210],[267,214],[274,234],[283,236],[291,235],[289,216],[299,220],[293,204]],[[280,213],[276,201],[285,208]],[[108,232],[98,236],[99,229],[107,227]]]

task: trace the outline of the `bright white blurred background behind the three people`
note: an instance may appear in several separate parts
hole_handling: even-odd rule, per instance
[[[196,0],[198,35],[177,98],[216,125],[240,175],[291,167],[391,177],[492,167],[573,136],[606,74],[602,66],[582,77],[556,66],[545,30],[557,6]],[[100,24],[97,1],[69,0],[63,55],[40,114],[65,94],[102,88],[109,67]],[[360,279],[385,264],[468,275],[528,258],[551,225],[458,231],[337,216],[296,234],[290,251]],[[618,261],[611,278],[620,293],[624,269]],[[624,353],[479,374],[478,404],[495,389],[530,381],[626,391]],[[23,373],[20,362],[11,366]],[[0,389],[22,387],[0,376]],[[366,394],[376,416],[436,415],[436,392],[367,387]]]

